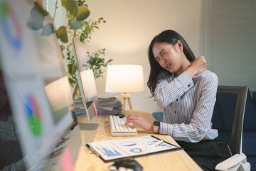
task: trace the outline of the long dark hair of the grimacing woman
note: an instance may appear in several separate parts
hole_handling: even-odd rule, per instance
[[[178,40],[180,40],[183,43],[183,53],[185,54],[188,61],[190,62],[194,61],[196,58],[193,52],[191,51],[191,48],[189,48],[184,38],[176,31],[166,30],[159,33],[159,35],[153,38],[153,40],[149,45],[150,74],[149,74],[149,80],[147,82],[147,86],[150,89],[152,97],[154,96],[154,90],[156,89],[156,84],[160,79],[159,76],[162,75],[163,77],[161,77],[161,79],[165,79],[171,76],[172,74],[169,71],[167,71],[165,68],[162,68],[154,58],[154,54],[152,51],[154,43],[169,43],[169,44],[175,45]]]

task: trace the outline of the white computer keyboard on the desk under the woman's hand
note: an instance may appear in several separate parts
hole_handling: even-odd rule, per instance
[[[137,135],[137,130],[132,123],[125,125],[126,118],[110,115],[110,131],[113,137]]]

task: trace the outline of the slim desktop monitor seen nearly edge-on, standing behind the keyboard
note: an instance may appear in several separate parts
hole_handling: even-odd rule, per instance
[[[77,38],[73,40],[73,51],[75,64],[77,66],[78,86],[82,96],[82,103],[85,108],[88,120],[92,120],[98,107],[97,88],[93,71],[90,68],[90,58],[87,47]],[[94,104],[93,104],[94,103]]]

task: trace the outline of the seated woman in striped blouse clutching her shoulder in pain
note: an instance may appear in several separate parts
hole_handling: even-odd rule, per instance
[[[139,113],[128,115],[127,123],[144,130],[171,135],[203,170],[214,170],[223,161],[211,128],[218,77],[206,70],[203,56],[195,59],[183,37],[167,30],[155,36],[149,46],[151,66],[147,83],[164,122],[149,123]]]

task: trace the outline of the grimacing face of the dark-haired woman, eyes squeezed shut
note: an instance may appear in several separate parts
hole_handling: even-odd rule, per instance
[[[182,69],[184,55],[181,41],[178,41],[175,45],[154,43],[152,51],[156,61],[167,71],[178,73]]]

